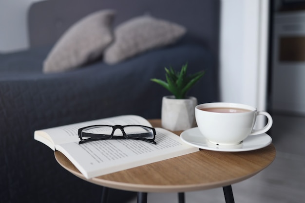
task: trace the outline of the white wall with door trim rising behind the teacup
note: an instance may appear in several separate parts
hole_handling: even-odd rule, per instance
[[[266,109],[267,0],[222,0],[221,100]]]

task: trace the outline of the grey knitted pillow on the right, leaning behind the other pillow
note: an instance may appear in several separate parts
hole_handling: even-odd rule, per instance
[[[114,42],[105,50],[104,61],[115,64],[150,49],[176,42],[186,28],[176,23],[141,16],[127,20],[114,31]]]

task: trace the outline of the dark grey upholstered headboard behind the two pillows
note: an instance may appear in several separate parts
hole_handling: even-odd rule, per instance
[[[53,44],[78,19],[100,9],[115,9],[115,25],[150,14],[187,27],[188,37],[218,53],[219,0],[46,0],[29,10],[31,47]]]

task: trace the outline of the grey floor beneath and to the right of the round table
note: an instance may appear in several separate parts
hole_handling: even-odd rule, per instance
[[[274,162],[232,185],[235,203],[305,202],[305,117],[273,114]],[[186,203],[225,203],[222,188],[187,192]],[[136,199],[128,203],[136,203]],[[176,193],[149,193],[148,203],[178,203]]]

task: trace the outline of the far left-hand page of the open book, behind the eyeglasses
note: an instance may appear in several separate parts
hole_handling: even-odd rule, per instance
[[[137,115],[123,115],[115,116],[111,118],[98,119],[93,121],[86,121],[71,125],[65,125],[50,129],[36,130],[34,132],[34,139],[44,143],[53,150],[57,144],[78,142],[79,138],[77,135],[78,129],[92,125],[144,125],[152,126],[145,118]]]

